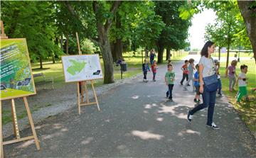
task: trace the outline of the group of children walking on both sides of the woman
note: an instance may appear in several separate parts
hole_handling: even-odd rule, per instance
[[[190,82],[192,81],[192,86],[193,86],[193,91],[196,92],[196,95],[193,99],[194,102],[196,103],[200,103],[200,92],[199,92],[199,64],[196,64],[196,67],[194,66],[194,61],[192,58],[190,60],[185,60],[185,63],[183,64],[183,66],[181,67],[181,70],[183,72],[183,77],[180,81],[180,84],[183,85],[183,81],[186,79],[186,84],[183,85],[183,90],[187,91],[187,86],[190,86]],[[218,60],[214,60],[215,63],[215,72],[217,74],[217,79],[218,79],[218,91],[217,94],[218,96],[223,96],[222,94],[222,83],[221,83],[221,79],[220,79],[220,61]],[[239,75],[236,74],[235,72],[235,66],[237,65],[237,61],[233,60],[231,62],[231,65],[226,69],[226,77],[228,77],[229,79],[229,90],[230,91],[234,91],[234,86],[235,84],[238,84],[238,94],[236,96],[236,102],[240,103],[240,100],[243,96],[246,97],[246,100],[248,100],[248,96],[247,96],[247,77],[245,76],[245,74],[247,73],[247,65],[242,64],[240,66],[241,72]],[[171,101],[172,101],[172,90],[174,87],[174,79],[175,79],[175,73],[173,71],[173,65],[171,63],[169,63],[167,65],[167,69],[168,72],[166,72],[165,75],[165,81],[166,81],[166,85],[168,86],[168,91],[166,92],[166,97],[168,97]],[[196,70],[196,72],[194,73],[193,70]],[[237,77],[237,79],[235,78],[235,76]]]

